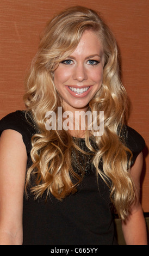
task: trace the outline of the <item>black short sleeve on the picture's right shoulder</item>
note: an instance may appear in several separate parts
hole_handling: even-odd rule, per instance
[[[132,154],[133,154],[132,164],[133,164],[136,160],[136,157],[144,149],[145,140],[137,131],[135,131],[129,126],[127,126],[127,131],[128,131],[127,147],[132,151]]]

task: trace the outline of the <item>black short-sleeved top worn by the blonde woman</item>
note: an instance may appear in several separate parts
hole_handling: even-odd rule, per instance
[[[29,167],[32,163],[30,149],[35,126],[27,122],[24,111],[16,111],[0,121],[0,135],[6,129],[21,133]],[[145,147],[145,141],[131,127],[127,126],[125,133],[134,162]],[[85,143],[84,139],[80,139],[80,142]],[[29,199],[24,197],[23,245],[117,245],[109,187],[100,177],[97,187],[94,168],[85,173],[77,193],[67,196],[62,202],[52,195],[47,202],[44,197],[34,200],[32,194]]]

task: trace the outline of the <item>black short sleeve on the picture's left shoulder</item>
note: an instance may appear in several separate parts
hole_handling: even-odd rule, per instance
[[[23,142],[26,145],[27,154],[31,150],[31,138],[34,128],[26,119],[26,111],[16,111],[6,115],[0,120],[0,136],[4,130],[15,130],[21,133]]]

